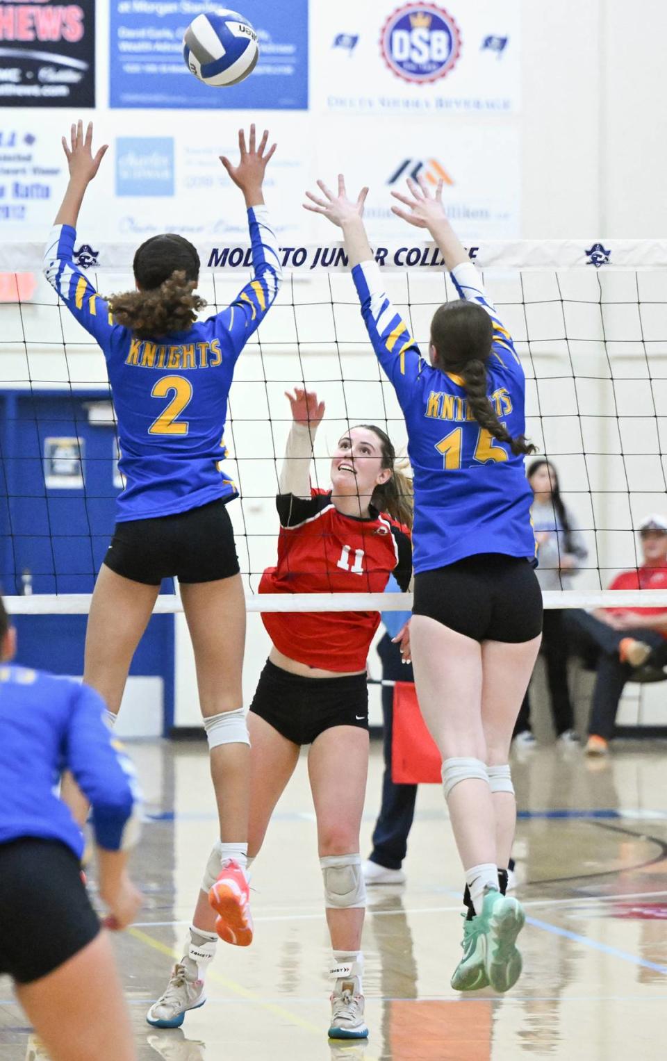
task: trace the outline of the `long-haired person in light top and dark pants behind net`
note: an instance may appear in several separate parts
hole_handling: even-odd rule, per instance
[[[533,492],[530,517],[538,546],[538,580],[542,590],[572,589],[573,576],[589,555],[577,521],[563,503],[558,472],[549,460],[532,460],[527,477]],[[576,744],[575,713],[567,688],[567,638],[562,608],[544,611],[541,653],[546,664],[549,703],[557,740]],[[530,728],[530,699],[526,691],[514,727],[515,747],[529,748],[536,740]]]

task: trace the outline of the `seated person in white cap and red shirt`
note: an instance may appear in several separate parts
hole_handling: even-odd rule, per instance
[[[642,566],[621,571],[610,590],[667,590],[667,518],[647,516],[638,530]],[[667,664],[667,608],[577,608],[567,612],[566,625],[577,647],[599,651],[585,752],[605,755],[626,682],[639,667]]]

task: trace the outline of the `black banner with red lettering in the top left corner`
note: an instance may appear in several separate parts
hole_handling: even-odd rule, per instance
[[[94,0],[0,0],[0,106],[94,105]]]

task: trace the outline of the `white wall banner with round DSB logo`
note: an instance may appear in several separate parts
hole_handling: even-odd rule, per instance
[[[346,115],[511,115],[520,0],[337,0],[312,7],[313,105]]]

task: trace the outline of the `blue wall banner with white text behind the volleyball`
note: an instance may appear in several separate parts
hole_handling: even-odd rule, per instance
[[[259,36],[258,65],[239,85],[212,88],[186,66],[182,37],[196,15],[221,6],[210,0],[110,0],[110,106],[306,109],[308,0],[243,0],[243,15]]]

